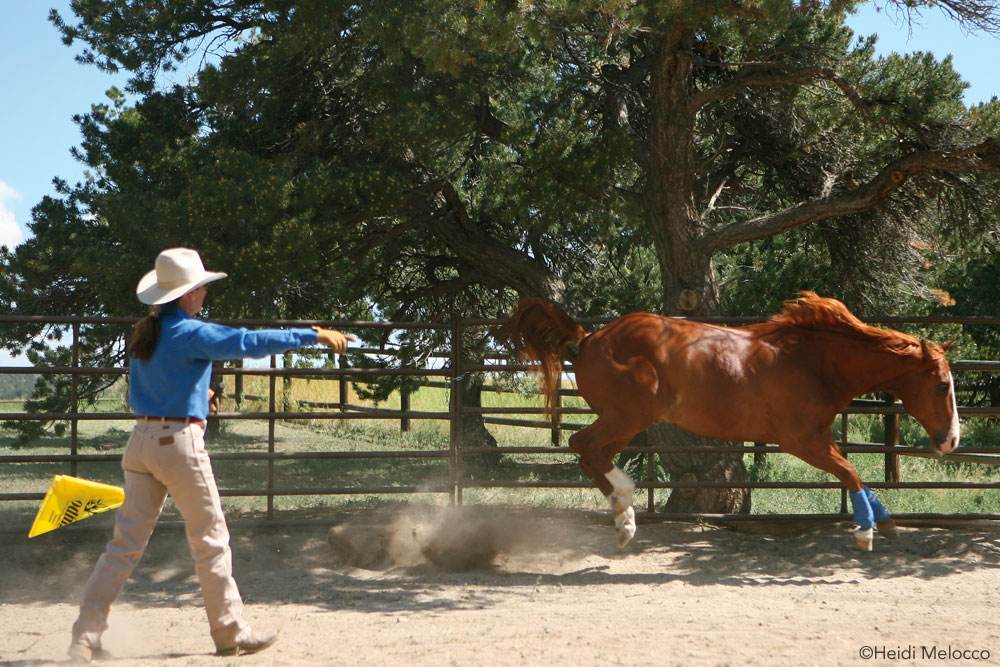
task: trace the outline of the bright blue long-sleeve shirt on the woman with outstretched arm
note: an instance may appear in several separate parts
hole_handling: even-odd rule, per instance
[[[160,309],[160,337],[147,360],[129,360],[129,406],[147,417],[208,417],[212,362],[267,357],[316,343],[313,329],[234,329]]]

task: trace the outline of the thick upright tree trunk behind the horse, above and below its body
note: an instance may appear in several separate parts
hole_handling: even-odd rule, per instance
[[[717,315],[720,310],[712,250],[704,240],[706,222],[701,219],[694,194],[697,108],[692,101],[694,84],[687,48],[692,37],[682,29],[669,31],[654,58],[646,195],[646,225],[660,266],[663,312],[687,317]],[[654,426],[648,435],[653,445],[668,440],[695,446],[719,444],[718,440],[666,426]],[[663,465],[673,481],[747,479],[739,454],[671,454],[663,457]],[[729,514],[749,508],[749,489],[675,489],[666,511]]]

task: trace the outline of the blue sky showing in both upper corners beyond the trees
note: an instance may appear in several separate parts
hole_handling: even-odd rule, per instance
[[[70,183],[83,178],[69,152],[80,140],[73,115],[106,101],[105,91],[124,88],[127,78],[77,63],[80,47],[62,43],[47,20],[50,7],[70,16],[69,0],[0,0],[0,245],[17,245],[28,234],[31,209],[54,193],[54,177]],[[912,30],[895,14],[869,6],[849,23],[859,35],[878,34],[882,53],[952,54],[954,68],[971,84],[968,104],[1000,95],[993,70],[1000,39],[966,34],[937,10]]]

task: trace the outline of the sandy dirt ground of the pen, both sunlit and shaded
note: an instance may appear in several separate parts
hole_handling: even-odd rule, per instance
[[[84,522],[85,523],[85,522]],[[66,662],[109,536],[3,535],[0,664]],[[183,530],[162,523],[112,609],[118,665],[1000,664],[1000,532],[733,530],[607,515],[408,508],[231,525],[250,620],[281,639],[217,658]]]

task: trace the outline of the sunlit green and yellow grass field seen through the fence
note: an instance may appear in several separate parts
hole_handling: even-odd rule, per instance
[[[336,381],[295,379],[286,388],[278,383],[279,391],[285,390],[290,401],[336,402],[339,386]],[[266,395],[266,378],[248,377],[244,391],[247,394]],[[349,402],[361,404],[353,389]],[[512,393],[484,392],[483,402],[488,406],[541,407],[537,396]],[[567,406],[582,405],[579,399],[569,397]],[[398,409],[399,396],[392,395],[379,407]],[[16,406],[6,405],[0,410],[14,411]],[[103,411],[125,410],[123,401],[105,401],[92,408]],[[448,392],[445,389],[422,388],[411,398],[411,409],[426,412],[447,412]],[[266,410],[266,403],[246,400],[236,406],[227,399],[224,412]],[[537,415],[526,416],[539,419]],[[567,421],[587,422],[590,415],[572,415]],[[79,422],[79,451],[83,454],[120,454],[131,430],[131,421],[81,421]],[[510,446],[549,447],[548,429],[517,426],[490,425],[490,432],[500,448]],[[848,425],[848,439],[852,442],[878,442],[881,439],[881,419],[875,416],[852,416]],[[840,438],[840,420],[835,424],[835,435]],[[905,444],[926,446],[927,436],[913,420],[904,418],[901,428]],[[307,452],[440,452],[448,450],[449,424],[446,420],[413,420],[411,430],[400,432],[398,420],[316,420],[303,416],[295,421],[275,423],[274,451],[288,453]],[[562,433],[565,444],[568,432]],[[963,434],[967,446],[995,446],[1000,443],[1000,429],[987,420],[967,420]],[[268,424],[256,420],[226,420],[221,430],[209,439],[213,454],[237,452],[267,452]],[[0,455],[6,454],[67,454],[68,433],[48,434],[25,448],[15,449],[13,433],[0,428]],[[879,481],[884,478],[882,454],[851,454],[851,461],[862,478]],[[762,464],[754,463],[747,455],[745,463],[753,481],[832,481],[828,474],[791,456],[769,454]],[[342,489],[360,487],[430,489],[447,486],[449,482],[448,458],[338,458],[338,459],[288,459],[270,464],[267,461],[234,461],[216,459],[214,462],[219,487],[224,490],[252,490],[267,487],[269,474],[275,486],[284,490],[308,491],[320,487]],[[41,493],[52,476],[69,474],[67,463],[0,463],[0,493]],[[901,462],[904,481],[976,481],[1000,484],[997,466],[960,464],[914,457],[903,457]],[[640,465],[630,470],[636,479],[644,479]],[[118,461],[82,462],[76,474],[80,477],[110,484],[121,484]],[[576,457],[566,449],[559,454],[508,454],[499,463],[487,465],[475,459],[463,463],[464,479],[491,481],[584,482],[586,478],[576,464]],[[657,478],[664,479],[662,470]],[[885,489],[878,491],[890,512],[895,513],[1000,513],[1000,489]],[[604,509],[600,494],[585,488],[466,488],[463,501],[469,504],[516,504],[553,508]],[[663,507],[668,491],[656,491],[656,506]],[[448,496],[428,492],[421,494],[422,501],[445,503]],[[277,496],[274,507],[283,511],[327,512],[341,509],[370,507],[373,505],[404,502],[403,494],[338,493]],[[755,514],[785,513],[836,513],[840,511],[839,489],[754,489]],[[259,516],[267,509],[263,497],[226,496],[223,504],[228,514]],[[640,491],[636,504],[645,507],[645,493]],[[7,501],[0,504],[0,527],[28,525],[38,507],[38,501]],[[168,507],[168,514],[173,510]],[[280,514],[279,514],[280,516]],[[101,519],[95,517],[95,521]]]

